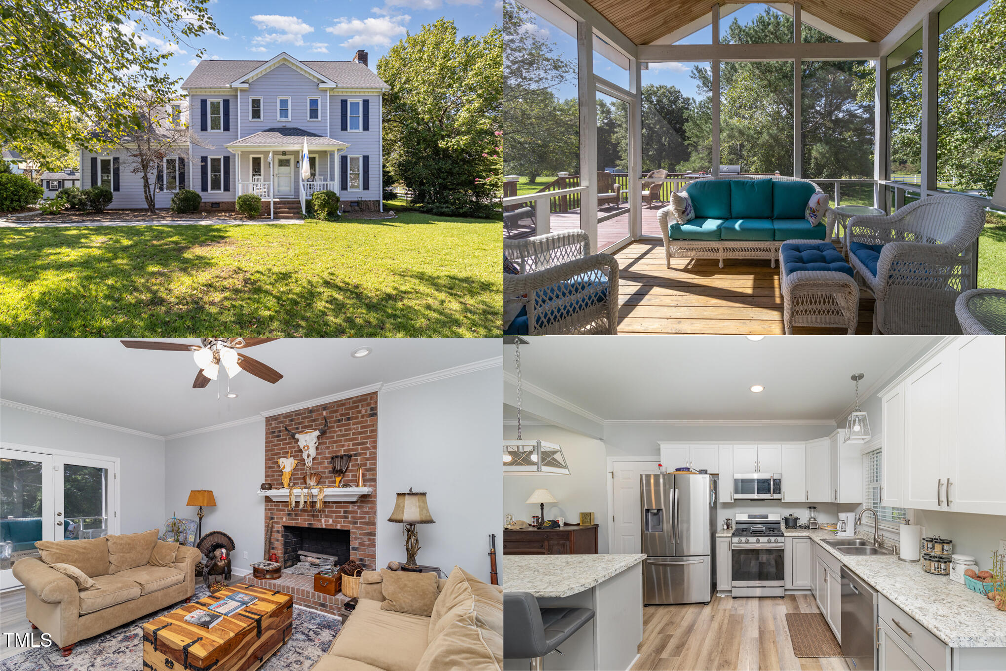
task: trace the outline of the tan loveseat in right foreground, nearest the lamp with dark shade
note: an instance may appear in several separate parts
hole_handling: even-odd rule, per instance
[[[360,599],[312,671],[499,671],[503,594],[455,566],[438,582],[431,617],[381,610],[381,573],[366,571]]]

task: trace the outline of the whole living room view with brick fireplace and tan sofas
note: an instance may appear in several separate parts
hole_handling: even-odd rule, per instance
[[[499,668],[499,341],[0,356],[3,671]]]

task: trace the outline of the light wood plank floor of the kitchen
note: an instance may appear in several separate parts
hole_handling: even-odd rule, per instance
[[[787,613],[820,613],[814,596],[786,599],[713,597],[708,606],[643,609],[637,671],[792,669],[848,671],[841,657],[797,658]]]

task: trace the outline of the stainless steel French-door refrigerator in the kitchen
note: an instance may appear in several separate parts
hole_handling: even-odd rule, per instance
[[[643,604],[707,604],[716,590],[716,479],[645,474]]]

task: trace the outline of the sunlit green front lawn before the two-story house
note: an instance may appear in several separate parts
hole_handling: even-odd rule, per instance
[[[416,212],[0,228],[0,334],[498,336],[502,238],[500,221]]]

